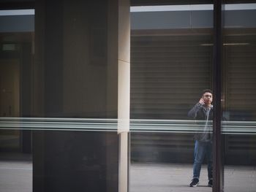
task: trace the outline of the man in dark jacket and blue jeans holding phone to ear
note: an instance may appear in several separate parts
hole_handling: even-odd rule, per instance
[[[190,187],[196,187],[199,184],[200,170],[205,156],[208,161],[208,186],[212,187],[212,134],[211,128],[213,117],[212,91],[206,89],[197,104],[189,111],[189,118],[203,120],[200,130],[195,134],[195,151],[193,164],[193,179]]]

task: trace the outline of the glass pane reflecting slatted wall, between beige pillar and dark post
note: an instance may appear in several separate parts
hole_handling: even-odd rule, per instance
[[[212,87],[212,16],[212,4],[131,7],[132,192],[189,188],[194,135],[211,135],[211,118],[188,112]],[[211,117],[209,109],[204,117]],[[195,177],[202,191],[211,191],[211,157],[209,174],[203,158]]]

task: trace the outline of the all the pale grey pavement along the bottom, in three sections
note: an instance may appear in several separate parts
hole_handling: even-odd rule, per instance
[[[132,164],[130,192],[211,191],[207,187],[206,166],[200,185],[189,188],[192,164]],[[0,161],[1,192],[31,192],[31,161]],[[225,166],[225,192],[256,191],[255,166]]]

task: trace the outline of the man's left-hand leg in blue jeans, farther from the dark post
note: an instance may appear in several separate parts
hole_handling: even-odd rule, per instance
[[[205,153],[205,143],[196,140],[194,150],[193,179],[197,178],[199,180],[201,165],[203,163]]]

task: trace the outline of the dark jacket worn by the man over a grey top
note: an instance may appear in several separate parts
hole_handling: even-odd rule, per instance
[[[203,104],[197,103],[189,110],[188,116],[195,120],[204,120],[197,124],[200,131],[195,134],[195,139],[202,142],[212,141],[213,106],[204,107]]]

